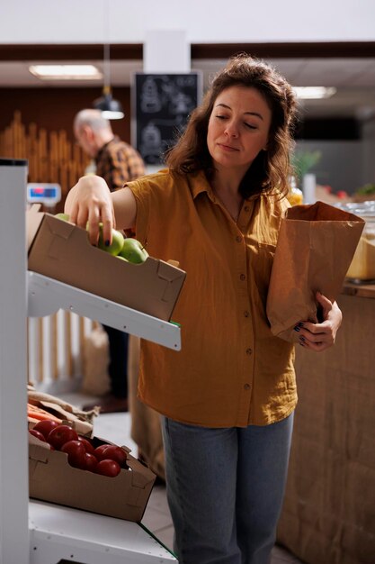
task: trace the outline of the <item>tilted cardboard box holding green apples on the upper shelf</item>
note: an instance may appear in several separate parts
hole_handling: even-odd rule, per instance
[[[148,257],[135,265],[90,244],[87,232],[32,206],[27,212],[29,270],[169,321],[186,273]]]

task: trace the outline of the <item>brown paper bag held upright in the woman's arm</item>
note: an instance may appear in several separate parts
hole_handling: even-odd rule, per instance
[[[298,341],[294,326],[318,323],[316,293],[339,295],[360,241],[364,220],[332,205],[290,207],[281,219],[267,296],[273,335]]]

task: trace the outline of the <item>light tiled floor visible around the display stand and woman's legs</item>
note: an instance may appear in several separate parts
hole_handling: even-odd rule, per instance
[[[86,396],[64,395],[64,399],[74,405],[82,405]],[[90,400],[92,398],[90,397]],[[90,401],[89,400],[89,401]],[[101,414],[94,421],[94,434],[116,444],[126,445],[133,456],[137,456],[137,445],[130,438],[129,414]],[[165,487],[155,486],[147,504],[142,523],[165,546],[172,550],[174,527],[166,503]],[[271,564],[302,564],[288,550],[276,546],[272,550]]]

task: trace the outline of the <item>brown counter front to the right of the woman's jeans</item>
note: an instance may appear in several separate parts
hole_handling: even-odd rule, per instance
[[[345,283],[335,347],[297,347],[299,405],[278,541],[308,564],[373,564],[375,285]]]

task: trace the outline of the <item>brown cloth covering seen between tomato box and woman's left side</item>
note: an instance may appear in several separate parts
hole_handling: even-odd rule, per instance
[[[131,438],[138,445],[139,458],[146,462],[156,476],[165,480],[165,460],[160,415],[137,397],[139,368],[139,338],[129,335],[129,413]]]

